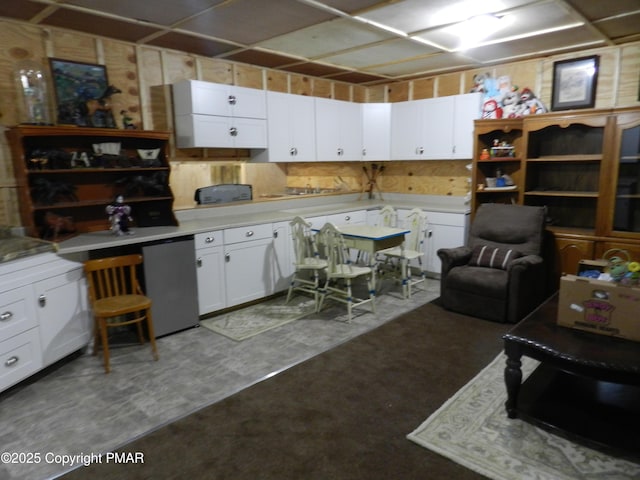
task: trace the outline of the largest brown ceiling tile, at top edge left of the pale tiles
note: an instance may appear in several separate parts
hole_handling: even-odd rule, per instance
[[[180,28],[252,45],[332,18],[295,0],[237,0],[203,12]]]

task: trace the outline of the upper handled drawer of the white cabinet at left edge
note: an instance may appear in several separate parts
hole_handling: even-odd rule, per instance
[[[37,326],[30,286],[0,294],[0,341]]]

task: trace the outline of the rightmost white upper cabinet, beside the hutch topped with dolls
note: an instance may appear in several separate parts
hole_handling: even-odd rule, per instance
[[[472,157],[473,120],[481,94],[398,102],[391,107],[394,160],[449,160]]]

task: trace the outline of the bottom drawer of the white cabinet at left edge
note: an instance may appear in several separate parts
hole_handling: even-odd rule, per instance
[[[0,342],[0,391],[41,368],[42,353],[37,328]]]

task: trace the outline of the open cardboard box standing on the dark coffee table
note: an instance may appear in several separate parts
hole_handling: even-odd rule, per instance
[[[640,288],[564,275],[558,325],[640,341]]]

